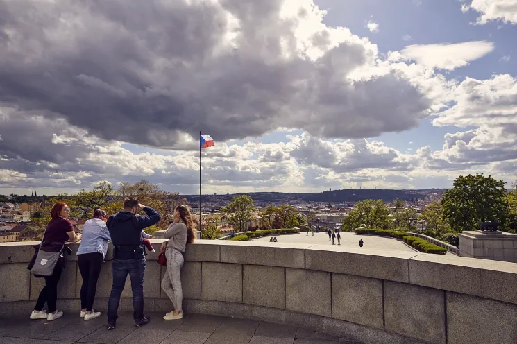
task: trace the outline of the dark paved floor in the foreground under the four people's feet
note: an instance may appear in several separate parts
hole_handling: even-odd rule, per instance
[[[2,344],[149,343],[149,344],[353,344],[338,336],[271,322],[223,316],[186,315],[182,320],[163,320],[151,313],[151,322],[133,327],[133,314],[121,314],[117,328],[105,328],[105,316],[82,320],[78,313],[52,322],[28,316],[2,319]]]

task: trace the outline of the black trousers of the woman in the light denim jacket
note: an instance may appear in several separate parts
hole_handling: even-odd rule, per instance
[[[80,287],[80,308],[86,309],[86,311],[92,311],[103,261],[102,253],[77,255],[77,264],[80,275],[83,277],[83,285]]]

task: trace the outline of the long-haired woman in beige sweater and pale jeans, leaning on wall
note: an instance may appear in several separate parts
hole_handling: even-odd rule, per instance
[[[174,222],[171,223],[165,239],[165,257],[167,257],[167,273],[162,279],[162,289],[167,294],[174,307],[173,311],[167,313],[165,320],[183,318],[181,304],[183,302],[183,291],[181,289],[181,267],[183,266],[183,253],[187,243],[194,241],[194,225],[192,215],[187,205],[178,205],[174,209]]]

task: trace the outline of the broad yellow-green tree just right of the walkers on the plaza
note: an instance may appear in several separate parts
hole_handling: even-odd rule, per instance
[[[353,232],[358,227],[390,227],[389,209],[382,200],[361,200],[344,218],[341,226],[343,232]]]

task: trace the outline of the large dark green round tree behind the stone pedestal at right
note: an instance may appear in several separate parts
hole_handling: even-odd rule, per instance
[[[441,200],[443,217],[456,232],[480,229],[480,221],[507,223],[505,182],[482,174],[460,175]]]

